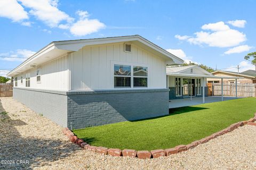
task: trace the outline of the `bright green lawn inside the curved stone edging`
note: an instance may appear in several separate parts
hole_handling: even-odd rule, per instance
[[[256,98],[241,98],[172,110],[167,116],[74,130],[78,138],[94,146],[153,150],[202,139],[249,120],[256,112]]]

